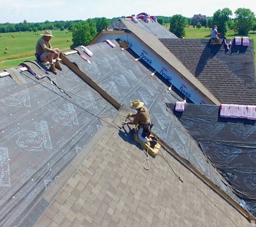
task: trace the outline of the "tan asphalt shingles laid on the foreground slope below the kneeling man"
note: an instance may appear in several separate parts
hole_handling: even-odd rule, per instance
[[[117,144],[112,150],[105,146],[111,138]],[[75,173],[35,226],[251,226],[197,176],[162,152],[184,183],[160,156],[149,159],[149,171],[143,169],[146,157],[132,135],[123,143],[119,131],[109,129],[79,167],[82,175],[77,183],[73,183],[78,179]],[[88,180],[81,182],[84,178]]]

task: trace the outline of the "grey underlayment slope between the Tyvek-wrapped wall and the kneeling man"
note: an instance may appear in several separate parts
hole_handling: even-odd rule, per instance
[[[179,100],[175,98],[175,90],[169,93],[168,86],[160,80],[161,75],[151,76],[154,69],[151,69],[150,65],[142,59],[135,61],[138,55],[131,49],[121,51],[117,42],[115,40],[112,42],[116,44],[115,48],[110,48],[105,42],[87,46],[93,52],[91,64],[82,60],[79,54],[67,55],[66,58],[74,62],[82,72],[125,107],[129,108],[135,99],[143,101],[149,109],[150,119],[154,124],[153,132],[239,203],[239,198],[222,182],[195,141],[168,110],[166,103],[176,103]]]

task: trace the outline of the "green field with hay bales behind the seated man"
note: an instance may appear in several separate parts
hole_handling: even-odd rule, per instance
[[[51,38],[51,44],[53,47],[58,47],[59,49],[70,48],[72,44],[72,32],[66,33],[65,31],[52,31],[53,36]],[[0,70],[11,68],[17,66],[23,59],[34,55],[34,49],[36,47],[37,40],[41,37],[44,31],[38,31],[39,35],[34,34],[34,32],[13,32],[13,33],[0,33]],[[15,38],[12,38],[12,34]],[[70,42],[67,42],[67,39]],[[8,47],[7,54],[5,48]],[[13,59],[20,59],[15,61],[9,61]],[[25,60],[34,60],[32,57]],[[7,62],[3,62],[7,61]]]

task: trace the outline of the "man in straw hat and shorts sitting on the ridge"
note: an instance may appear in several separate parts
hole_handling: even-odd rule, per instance
[[[37,41],[37,45],[36,45],[36,58],[38,61],[40,62],[45,62],[45,61],[49,61],[50,62],[50,69],[54,74],[57,74],[57,70],[58,69],[62,69],[61,65],[60,65],[60,51],[59,48],[52,48],[50,39],[52,37],[54,37],[52,35],[52,31],[51,30],[45,30],[44,34],[41,34],[40,39],[38,39]],[[55,64],[53,63],[53,58],[56,59]]]

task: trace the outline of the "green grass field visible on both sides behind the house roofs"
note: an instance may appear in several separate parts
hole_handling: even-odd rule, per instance
[[[170,24],[165,24],[164,26],[169,30]],[[72,32],[67,31],[52,31],[53,37],[51,39],[51,44],[53,47],[58,47],[60,49],[68,49],[72,44],[72,41],[67,42],[67,39],[72,40]],[[197,29],[196,27],[190,26],[185,29],[186,36],[185,38],[190,39],[209,39],[210,38],[210,30],[205,29],[205,27],[201,27]],[[38,34],[43,34],[42,32],[37,32]],[[12,38],[12,34],[15,38]],[[20,62],[25,60],[34,60],[34,48],[36,46],[36,42],[39,39],[37,34],[34,32],[14,32],[14,33],[0,33],[2,37],[0,37],[0,70],[11,68],[17,66]],[[233,31],[228,31],[226,34],[227,38],[233,38],[237,36]],[[250,32],[248,34],[250,39],[256,39],[256,33]],[[5,48],[8,47],[8,54],[4,54]],[[254,50],[256,49],[256,41],[254,41]],[[26,58],[29,56],[33,56],[28,59],[20,59]],[[12,59],[19,59],[8,61]],[[255,59],[255,55],[254,55]],[[6,61],[6,62],[3,62]],[[256,61],[256,59],[255,59]]]

